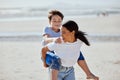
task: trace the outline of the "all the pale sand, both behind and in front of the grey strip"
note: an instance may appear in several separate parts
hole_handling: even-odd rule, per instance
[[[120,15],[89,18],[65,18],[75,20],[88,34],[120,35]],[[0,21],[0,33],[40,32],[48,20]],[[0,41],[0,80],[49,80],[48,69],[40,59],[40,40]],[[120,79],[120,41],[91,42],[83,45],[82,52],[90,70],[100,80]],[[76,80],[85,80],[84,72],[75,66]]]

